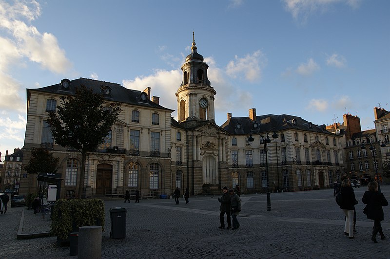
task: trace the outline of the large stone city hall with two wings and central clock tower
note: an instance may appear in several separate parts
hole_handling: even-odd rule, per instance
[[[159,105],[150,88],[141,92],[78,78],[27,89],[22,163],[28,163],[31,148],[43,147],[59,157],[59,168],[54,176],[25,174],[20,193],[42,191],[39,182],[51,178],[60,185],[61,198],[72,197],[81,181],[86,197],[136,189],[144,197],[170,196],[176,186],[182,193],[189,188],[193,195],[216,194],[223,186],[235,185],[242,193],[265,192],[268,187],[299,191],[328,188],[340,181],[342,136],[297,116],[257,115],[254,108],[245,117],[227,112],[226,122],[218,126],[216,91],[195,40],[181,70],[177,120],[171,116],[173,107]],[[79,177],[81,154],[57,145],[47,123],[48,112],[56,111],[60,97],[75,94],[80,85],[101,92],[107,104],[120,103],[122,109],[105,142],[87,154],[84,179]]]

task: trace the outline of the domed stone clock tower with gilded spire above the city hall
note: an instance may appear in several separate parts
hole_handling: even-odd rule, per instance
[[[196,49],[193,33],[191,54],[186,57],[185,63],[181,66],[183,81],[176,92],[178,122],[215,123],[214,95],[216,92],[207,77],[209,66],[203,61],[203,56],[196,52]]]

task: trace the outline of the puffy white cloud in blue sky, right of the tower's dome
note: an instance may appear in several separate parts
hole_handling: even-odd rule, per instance
[[[230,77],[240,77],[244,74],[246,80],[255,82],[261,79],[262,69],[267,64],[267,58],[258,50],[253,54],[247,54],[245,57],[234,57],[226,66],[226,74]]]

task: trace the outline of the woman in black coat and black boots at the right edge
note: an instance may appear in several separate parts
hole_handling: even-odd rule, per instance
[[[369,190],[364,193],[362,198],[362,202],[367,204],[363,213],[367,214],[367,219],[374,221],[371,240],[374,241],[374,243],[377,243],[376,234],[378,234],[378,232],[381,235],[381,240],[386,238],[381,226],[381,221],[384,219],[382,206],[389,205],[389,202],[386,200],[383,193],[378,191],[377,182],[371,182],[368,185],[368,189]]]

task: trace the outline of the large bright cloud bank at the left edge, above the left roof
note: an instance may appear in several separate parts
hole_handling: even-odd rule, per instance
[[[20,83],[14,79],[14,66],[26,67],[25,59],[38,63],[42,69],[65,73],[71,68],[57,38],[41,34],[30,22],[41,14],[39,3],[32,1],[0,0],[0,108],[25,111],[25,101],[20,97]]]

